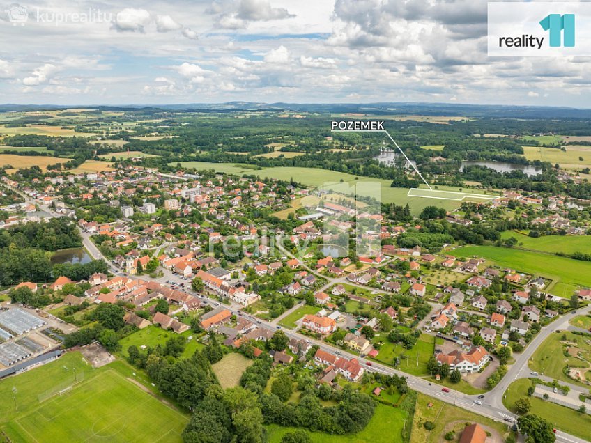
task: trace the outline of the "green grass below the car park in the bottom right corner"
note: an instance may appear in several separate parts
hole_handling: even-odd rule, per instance
[[[522,378],[509,384],[502,401],[505,407],[514,411],[515,401],[528,395],[528,387],[531,383],[528,378]],[[579,414],[569,407],[556,405],[542,398],[530,397],[529,400],[532,403],[530,414],[536,414],[550,421],[553,427],[566,433],[591,441],[591,417],[588,414]]]

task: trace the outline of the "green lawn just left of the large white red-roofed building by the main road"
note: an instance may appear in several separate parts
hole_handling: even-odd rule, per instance
[[[380,353],[376,357],[376,360],[392,366],[394,359],[401,357],[400,366],[397,369],[411,375],[427,375],[427,362],[433,357],[433,350],[435,349],[433,340],[433,336],[421,334],[413,349],[408,350],[399,344],[387,341],[385,336],[374,337],[374,342],[384,341],[380,346]]]

